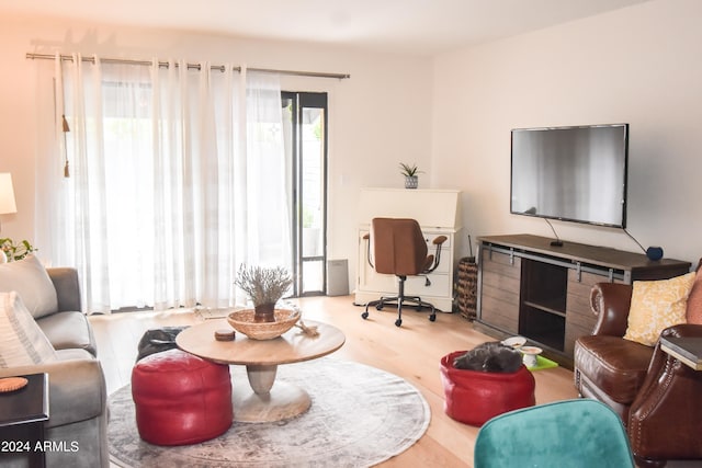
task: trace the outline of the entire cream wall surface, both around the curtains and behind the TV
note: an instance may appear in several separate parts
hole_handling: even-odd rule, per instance
[[[399,161],[426,171],[422,187],[465,192],[464,235],[552,236],[543,220],[509,214],[513,127],[630,123],[629,230],[645,247],[660,244],[666,256],[695,262],[700,18],[697,0],[654,0],[443,54],[432,70],[421,57],[3,16],[0,172],[12,172],[19,213],[2,216],[1,235],[34,237],[33,65],[25,54],[59,50],[351,73],[342,81],[284,81],[291,90],[329,92],[329,256],[349,259],[351,287],[358,190],[401,186]],[[637,250],[621,230],[554,226],[565,240]]]

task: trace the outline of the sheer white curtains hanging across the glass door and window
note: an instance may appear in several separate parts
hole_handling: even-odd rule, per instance
[[[276,77],[79,55],[57,58],[54,76],[37,243],[79,269],[87,311],[230,306],[240,263],[290,267]],[[56,168],[64,137],[69,179]]]

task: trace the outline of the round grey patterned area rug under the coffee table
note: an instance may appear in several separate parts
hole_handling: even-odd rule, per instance
[[[111,461],[133,468],[366,467],[409,448],[431,419],[412,385],[363,364],[325,357],[282,365],[278,379],[307,390],[309,411],[274,423],[235,422],[217,438],[180,447],[139,438],[132,390],[123,387],[109,399]],[[231,381],[249,385],[242,366],[231,366]]]

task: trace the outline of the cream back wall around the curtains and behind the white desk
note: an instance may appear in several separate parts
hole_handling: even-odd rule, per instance
[[[417,162],[430,174],[428,58],[7,15],[0,18],[0,172],[13,175],[19,210],[2,217],[3,237],[34,238],[36,129],[34,67],[25,59],[30,52],[350,73],[348,80],[283,79],[286,90],[329,92],[329,258],[349,259],[350,287],[355,276],[359,189],[401,186],[400,161]]]

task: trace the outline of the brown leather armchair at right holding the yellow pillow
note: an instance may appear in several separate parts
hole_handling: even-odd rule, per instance
[[[660,349],[624,340],[632,286],[600,283],[590,304],[598,321],[575,344],[575,386],[622,418],[639,467],[702,459],[702,372]],[[678,324],[661,336],[702,336],[702,326]]]

